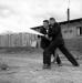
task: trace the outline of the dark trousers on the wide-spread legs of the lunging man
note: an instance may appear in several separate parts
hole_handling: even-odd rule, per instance
[[[59,48],[59,50],[66,56],[66,59],[73,64],[79,65],[74,56],[68,51],[64,44],[60,44],[60,40],[52,41],[50,45],[44,50],[43,54],[45,55],[45,64],[51,65],[51,54],[53,51]]]

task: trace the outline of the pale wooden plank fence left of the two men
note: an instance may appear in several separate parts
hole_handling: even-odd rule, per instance
[[[0,48],[31,46],[38,35],[29,33],[0,34]]]

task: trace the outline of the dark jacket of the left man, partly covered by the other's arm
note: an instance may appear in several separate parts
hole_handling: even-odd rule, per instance
[[[43,34],[48,34],[45,28],[41,28],[40,32]],[[45,37],[41,37],[41,48],[45,49],[50,44],[50,41]]]

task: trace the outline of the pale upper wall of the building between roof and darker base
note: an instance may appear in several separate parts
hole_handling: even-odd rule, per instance
[[[72,39],[78,37],[78,27],[82,27],[82,22],[74,22],[70,24],[62,24],[62,35],[64,39]]]

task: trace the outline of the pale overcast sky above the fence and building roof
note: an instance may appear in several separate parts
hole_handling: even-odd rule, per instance
[[[71,19],[82,18],[82,0],[71,0]],[[0,31],[37,27],[54,17],[66,20],[68,0],[0,0]]]

